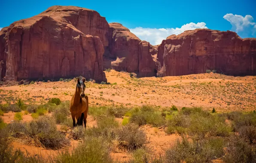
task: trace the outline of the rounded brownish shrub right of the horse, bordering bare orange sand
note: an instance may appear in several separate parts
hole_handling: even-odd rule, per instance
[[[134,150],[146,144],[146,133],[135,124],[127,124],[116,130],[120,146]]]

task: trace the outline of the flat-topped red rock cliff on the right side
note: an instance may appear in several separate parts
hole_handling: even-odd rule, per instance
[[[205,73],[256,75],[256,39],[235,32],[188,30],[168,36],[158,47],[158,76]]]

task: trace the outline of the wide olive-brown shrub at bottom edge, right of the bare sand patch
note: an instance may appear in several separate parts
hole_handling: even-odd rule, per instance
[[[209,163],[224,155],[225,144],[222,138],[188,141],[183,137],[170,149],[165,151],[166,163]]]

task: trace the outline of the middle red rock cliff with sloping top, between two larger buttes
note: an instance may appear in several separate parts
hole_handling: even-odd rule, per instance
[[[117,71],[135,72],[138,77],[155,76],[152,45],[141,41],[122,24],[110,23],[109,53],[105,54],[105,67]],[[111,34],[110,34],[111,36]],[[150,51],[151,48],[151,51]]]

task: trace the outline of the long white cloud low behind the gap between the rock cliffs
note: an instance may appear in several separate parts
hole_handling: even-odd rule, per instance
[[[175,34],[178,35],[183,33],[185,30],[194,30],[196,28],[207,28],[204,22],[201,23],[189,23],[184,24],[180,28],[143,28],[136,27],[129,29],[131,33],[134,33],[141,40],[150,42],[152,45],[161,44],[163,39],[166,39],[168,36]]]

